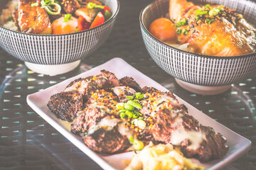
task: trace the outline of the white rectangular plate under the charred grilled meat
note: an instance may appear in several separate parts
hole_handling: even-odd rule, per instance
[[[127,62],[124,62],[124,60],[120,58],[114,58],[106,62],[105,64],[90,69],[89,71],[79,74],[78,76],[67,79],[60,84],[56,84],[55,86],[51,86],[48,89],[39,91],[35,94],[28,95],[27,102],[28,105],[31,106],[34,111],[36,111],[36,113],[41,115],[41,117],[45,119],[50,125],[52,125],[53,128],[58,130],[62,135],[70,140],[70,142],[73,142],[76,147],[81,149],[82,152],[87,154],[88,157],[90,157],[97,164],[99,164],[102,169],[124,169],[124,164],[122,163],[122,160],[131,159],[133,152],[113,154],[107,157],[103,157],[102,155],[93,152],[82,142],[80,137],[73,135],[73,133],[67,130],[65,126],[60,123],[60,120],[58,120],[58,118],[56,118],[56,116],[51,113],[46,106],[50,99],[50,96],[59,93],[60,91],[63,91],[65,86],[68,86],[71,81],[80,77],[88,77],[91,75],[100,74],[100,70],[102,69],[113,72],[119,79],[121,79],[122,77],[133,77],[134,80],[136,80],[137,83],[142,87],[153,86],[154,88],[161,91],[168,91],[164,88],[164,86],[161,86],[160,84],[156,83],[156,81],[150,79],[149,77],[146,77],[137,69],[134,69],[134,67],[127,64]],[[208,115],[202,113],[201,111],[198,111],[198,109],[186,103],[186,101],[183,101],[178,96],[177,99],[179,103],[185,104],[185,106],[188,108],[188,113],[193,115],[193,117],[196,118],[202,125],[211,126],[216,132],[220,132],[224,137],[226,137],[228,141],[228,146],[230,147],[230,149],[228,150],[228,154],[226,154],[221,159],[213,160],[212,162],[208,162],[206,164],[201,164],[196,159],[192,159],[193,162],[206,167],[206,169],[219,169],[220,167],[223,167],[226,164],[232,162],[234,159],[237,159],[250,149],[250,140],[247,140],[245,137],[238,135],[232,130],[216,122],[212,118],[208,117]]]

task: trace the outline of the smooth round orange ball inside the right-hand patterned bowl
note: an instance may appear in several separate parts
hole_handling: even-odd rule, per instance
[[[177,36],[175,24],[168,18],[153,21],[149,26],[149,33],[161,41],[174,40]]]

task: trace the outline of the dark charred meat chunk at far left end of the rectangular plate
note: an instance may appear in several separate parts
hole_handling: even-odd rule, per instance
[[[47,106],[58,118],[71,122],[82,108],[82,95],[73,91],[60,92],[50,96]]]

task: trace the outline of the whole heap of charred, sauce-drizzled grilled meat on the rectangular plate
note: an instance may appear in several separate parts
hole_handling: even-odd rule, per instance
[[[139,110],[146,128],[139,129],[134,118],[120,118],[117,103],[126,96],[141,91]],[[48,108],[58,118],[72,121],[71,132],[79,135],[95,152],[119,153],[132,144],[130,137],[157,143],[171,143],[181,147],[186,157],[197,157],[201,162],[218,159],[228,152],[225,138],[213,128],[198,123],[188,115],[186,106],[178,103],[174,94],[153,87],[139,87],[134,79],[117,79],[102,70],[94,77],[72,81],[65,91],[50,97]],[[138,117],[138,119],[139,119]]]

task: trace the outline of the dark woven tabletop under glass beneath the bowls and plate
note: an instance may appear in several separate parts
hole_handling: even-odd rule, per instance
[[[107,42],[68,74],[55,77],[36,74],[0,49],[0,169],[101,169],[35,113],[26,103],[26,96],[113,57],[123,58],[203,113],[252,141],[249,152],[223,169],[256,169],[256,75],[215,96],[181,89],[174,77],[160,69],[146,52],[139,13],[150,2],[120,0],[119,15]]]

